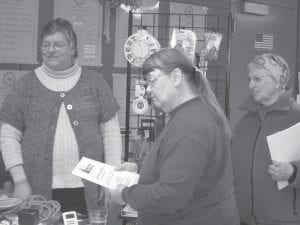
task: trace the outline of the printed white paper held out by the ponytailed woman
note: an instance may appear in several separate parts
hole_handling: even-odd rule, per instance
[[[114,166],[86,157],[82,157],[72,174],[109,189],[115,189],[119,184],[129,187],[136,184],[139,179],[137,173],[115,171]]]

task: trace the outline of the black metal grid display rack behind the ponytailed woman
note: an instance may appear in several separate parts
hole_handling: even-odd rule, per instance
[[[190,23],[183,24],[182,21],[189,17]],[[199,23],[197,20],[201,20]],[[174,22],[175,21],[175,22]],[[199,24],[201,24],[199,26]],[[222,42],[218,52],[217,60],[209,61],[206,75],[211,86],[223,107],[225,113],[229,114],[229,64],[230,64],[230,42],[231,42],[230,15],[207,15],[207,14],[171,14],[171,13],[132,13],[129,12],[128,37],[138,29],[146,29],[148,33],[157,38],[161,47],[169,46],[173,28],[190,29],[196,34],[197,46],[195,54],[195,65],[199,66],[199,49],[204,45],[205,32],[213,31],[222,33]],[[198,36],[198,35],[197,35]],[[126,81],[126,118],[125,118],[125,161],[139,160],[141,148],[149,150],[155,141],[155,137],[164,127],[168,117],[160,110],[149,107],[142,115],[136,114],[131,109],[134,99],[134,87],[136,80],[141,80],[141,69],[127,63]],[[136,138],[138,137],[138,138]],[[140,138],[141,137],[141,138]],[[142,141],[141,141],[142,140]],[[146,147],[145,147],[146,146]],[[142,150],[144,152],[144,149]]]

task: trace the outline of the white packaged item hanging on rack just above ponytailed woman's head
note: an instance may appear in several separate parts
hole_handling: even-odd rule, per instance
[[[170,42],[172,48],[178,48],[194,62],[197,36],[192,30],[173,29]]]

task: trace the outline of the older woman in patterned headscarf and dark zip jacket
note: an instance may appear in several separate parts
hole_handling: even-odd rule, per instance
[[[283,57],[266,53],[254,58],[248,71],[251,96],[240,108],[247,113],[232,140],[242,224],[300,224],[300,161],[272,161],[266,139],[300,122],[300,106],[288,87],[289,67]],[[278,181],[289,185],[278,190]]]

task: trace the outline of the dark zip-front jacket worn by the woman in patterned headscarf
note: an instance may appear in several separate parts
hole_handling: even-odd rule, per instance
[[[266,140],[268,135],[300,122],[300,106],[291,99],[289,90],[271,106],[261,108],[249,97],[241,109],[248,113],[236,126],[232,141],[241,220],[249,225],[300,224],[300,172],[293,183],[278,190],[268,172],[272,160]],[[299,171],[300,162],[292,164]]]

